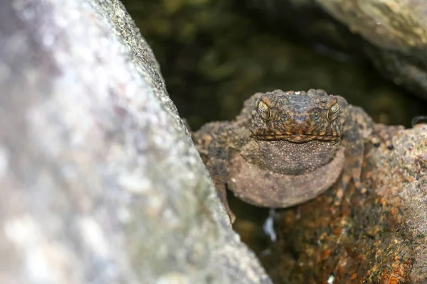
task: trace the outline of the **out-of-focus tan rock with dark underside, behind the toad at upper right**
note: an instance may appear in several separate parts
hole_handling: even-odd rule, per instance
[[[427,99],[427,2],[423,0],[246,0],[270,23],[311,44],[364,53],[381,75]],[[328,17],[325,11],[334,19]],[[317,45],[320,52],[339,53]]]

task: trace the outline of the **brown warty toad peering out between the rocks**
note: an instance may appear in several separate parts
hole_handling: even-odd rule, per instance
[[[234,121],[193,133],[231,221],[226,188],[263,207],[290,207],[327,190],[342,174],[344,190],[360,172],[374,121],[343,97],[320,89],[257,93]]]

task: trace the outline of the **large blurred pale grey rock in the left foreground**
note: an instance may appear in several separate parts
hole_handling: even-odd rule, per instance
[[[1,1],[0,46],[0,283],[270,283],[119,1]]]

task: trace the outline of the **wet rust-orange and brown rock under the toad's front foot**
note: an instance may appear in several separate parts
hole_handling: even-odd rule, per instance
[[[262,261],[274,283],[427,283],[427,124],[401,130],[394,150],[370,147],[367,194],[337,186],[276,216]]]

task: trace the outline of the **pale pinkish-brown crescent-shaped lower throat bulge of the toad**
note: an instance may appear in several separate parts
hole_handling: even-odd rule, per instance
[[[231,164],[227,185],[236,197],[260,207],[286,208],[312,200],[334,184],[344,166],[344,149],[330,163],[301,175],[263,170],[239,153]]]

